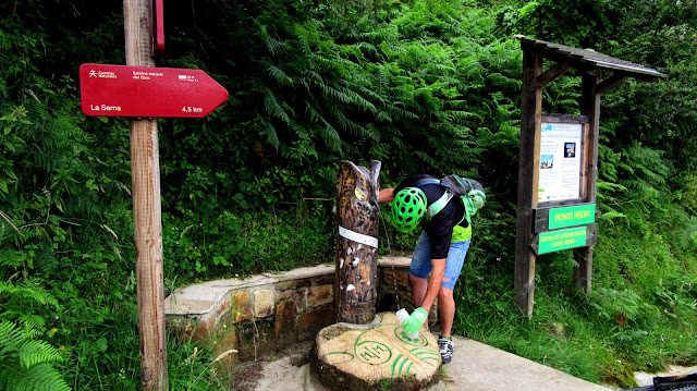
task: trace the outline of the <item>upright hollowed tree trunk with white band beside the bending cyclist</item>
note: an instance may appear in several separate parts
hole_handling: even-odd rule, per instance
[[[378,160],[372,160],[369,169],[342,161],[337,178],[334,316],[338,322],[366,325],[375,319],[380,167]]]

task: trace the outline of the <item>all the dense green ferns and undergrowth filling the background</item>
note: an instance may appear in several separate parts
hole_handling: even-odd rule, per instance
[[[338,162],[377,159],[383,187],[414,172],[460,172],[487,187],[455,292],[457,332],[622,387],[632,370],[697,359],[693,2],[173,4],[158,65],[203,69],[230,99],[205,119],[159,121],[168,290],[332,260]],[[129,127],[85,118],[76,88],[80,64],[123,63],[122,12],[118,2],[0,3],[4,374],[138,387]],[[595,293],[572,288],[571,252],[540,257],[531,322],[512,308],[522,72],[513,34],[669,75],[603,94]],[[578,86],[575,72],[546,86],[543,111],[578,114]],[[411,249],[417,233],[381,225],[380,254]],[[564,333],[550,331],[559,325]],[[169,337],[173,388],[224,389],[211,351]]]

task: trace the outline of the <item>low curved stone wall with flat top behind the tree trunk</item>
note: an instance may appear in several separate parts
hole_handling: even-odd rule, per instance
[[[378,313],[414,310],[409,261],[378,260]],[[253,361],[313,340],[333,323],[334,268],[319,265],[176,289],[164,301],[168,328],[178,329],[186,340],[212,344],[216,354],[235,350],[224,364]]]

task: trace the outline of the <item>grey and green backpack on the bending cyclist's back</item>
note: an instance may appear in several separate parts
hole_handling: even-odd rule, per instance
[[[445,205],[448,205],[453,197],[456,197],[465,208],[465,213],[462,220],[457,223],[460,224],[465,219],[468,223],[472,223],[472,217],[475,216],[477,210],[484,207],[484,203],[487,200],[481,183],[472,179],[462,178],[457,174],[445,175],[440,180],[423,179],[416,182],[416,187],[421,187],[428,184],[440,185],[445,188],[445,192],[442,197],[428,207],[425,217],[426,221],[432,219],[433,216],[443,210]]]

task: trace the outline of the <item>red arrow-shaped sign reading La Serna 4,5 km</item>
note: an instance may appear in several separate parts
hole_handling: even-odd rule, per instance
[[[83,112],[96,117],[203,118],[228,90],[200,70],[82,64]]]

